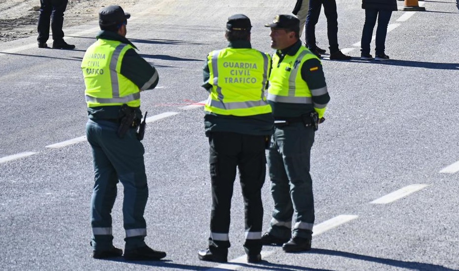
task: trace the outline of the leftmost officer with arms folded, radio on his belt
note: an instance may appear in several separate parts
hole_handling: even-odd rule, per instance
[[[101,32],[81,63],[88,110],[86,137],[92,147],[95,183],[91,199],[93,257],[118,257],[113,246],[112,208],[118,180],[124,186],[123,221],[126,233],[124,258],[159,260],[166,253],[144,241],[143,217],[148,198],[144,146],[136,133],[142,118],[140,91],[158,84],[156,70],[135,51],[126,36],[127,19],[118,5],[99,11]]]

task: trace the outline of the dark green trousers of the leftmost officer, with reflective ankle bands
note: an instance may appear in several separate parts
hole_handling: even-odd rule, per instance
[[[125,248],[145,246],[147,227],[144,219],[148,198],[144,164],[144,146],[134,129],[119,138],[118,124],[105,120],[88,120],[86,137],[92,148],[94,188],[91,198],[92,246],[105,250],[112,246],[112,208],[118,180],[124,187],[123,221]]]

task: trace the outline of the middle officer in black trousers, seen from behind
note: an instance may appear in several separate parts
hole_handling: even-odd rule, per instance
[[[251,47],[251,28],[247,16],[229,17],[225,34],[229,46],[210,52],[203,68],[202,86],[210,92],[204,107],[204,126],[210,145],[212,186],[209,245],[198,252],[203,261],[228,260],[236,167],[245,206],[243,246],[248,262],[261,261],[261,188],[266,176],[265,146],[273,127],[271,107],[265,97],[271,60]]]

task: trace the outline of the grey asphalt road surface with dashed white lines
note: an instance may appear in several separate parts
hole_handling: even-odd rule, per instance
[[[142,0],[126,10],[132,14],[127,38],[160,76],[155,90],[142,93],[150,116],[143,141],[146,241],[167,257],[90,257],[94,177],[79,65],[98,31],[94,21],[66,29],[75,50],[38,49],[36,37],[0,44],[0,270],[459,270],[458,0],[422,1],[426,11],[394,12],[387,62],[359,59],[361,2],[337,3],[340,48],[353,58],[322,60],[331,101],[312,150],[310,252],[264,247],[262,263],[246,263],[236,180],[230,262],[197,258],[207,245],[211,203],[204,59],[227,45],[226,20],[236,13],[251,18],[253,47],[272,52],[264,24],[290,13],[294,1]],[[327,48],[323,14],[316,36]],[[267,229],[268,177],[263,198]],[[113,227],[114,244],[122,248],[121,202],[119,185]]]

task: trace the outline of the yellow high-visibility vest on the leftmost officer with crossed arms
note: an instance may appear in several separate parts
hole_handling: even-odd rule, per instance
[[[121,62],[132,45],[99,39],[89,46],[81,62],[88,107],[140,106],[140,89],[121,75]]]

